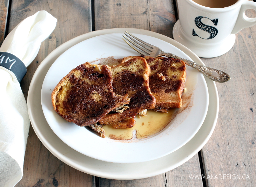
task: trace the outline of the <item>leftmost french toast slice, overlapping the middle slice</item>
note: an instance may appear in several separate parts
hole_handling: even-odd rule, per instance
[[[129,103],[128,94],[113,92],[113,76],[107,65],[89,62],[70,71],[54,88],[54,110],[79,126],[95,124],[114,108]]]

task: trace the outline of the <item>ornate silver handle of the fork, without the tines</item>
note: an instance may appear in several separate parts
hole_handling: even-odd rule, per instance
[[[176,55],[174,55],[173,53],[165,53],[164,51],[160,52],[159,57],[161,56],[166,56],[166,57],[170,57],[170,58],[176,58],[179,60],[183,60],[185,62],[185,64],[189,65],[190,67],[194,67],[195,69],[197,69],[198,71],[200,71],[201,73],[203,73],[204,75],[206,75],[206,77],[208,77],[209,79],[216,81],[216,82],[227,82],[228,80],[230,80],[230,76],[225,73],[224,71],[212,68],[212,67],[207,67],[207,66],[203,66],[203,65],[199,65],[196,64],[193,61],[178,57]]]

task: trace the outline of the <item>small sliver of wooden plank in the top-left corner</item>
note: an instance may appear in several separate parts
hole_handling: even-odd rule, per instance
[[[9,0],[0,1],[0,46],[5,37]]]

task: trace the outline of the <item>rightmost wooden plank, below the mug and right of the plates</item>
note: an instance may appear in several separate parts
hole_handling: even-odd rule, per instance
[[[247,15],[256,17],[253,10],[247,10]],[[229,82],[216,84],[220,99],[218,121],[202,149],[209,187],[256,184],[255,30],[253,26],[236,34],[235,45],[224,55],[202,58],[206,65],[222,69],[231,77]]]

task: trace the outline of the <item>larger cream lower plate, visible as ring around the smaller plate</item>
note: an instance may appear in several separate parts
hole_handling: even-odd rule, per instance
[[[153,36],[168,43],[171,43],[180,50],[184,51],[194,62],[198,64],[203,64],[200,58],[198,58],[189,49],[174,41],[173,39],[161,34],[157,34],[147,30],[130,28],[99,30],[73,38],[70,41],[59,46],[52,53],[50,53],[36,70],[28,92],[28,114],[32,127],[36,135],[39,137],[40,141],[51,153],[54,154],[54,156],[79,171],[97,177],[119,180],[131,180],[152,177],[173,170],[174,168],[188,161],[198,151],[200,151],[200,149],[203,148],[203,146],[207,143],[210,136],[212,135],[217,122],[219,109],[218,93],[215,82],[206,78],[206,83],[209,91],[209,108],[201,128],[198,130],[196,135],[180,149],[164,157],[151,161],[131,164],[105,162],[81,154],[78,151],[70,148],[64,142],[62,142],[61,139],[55,135],[53,130],[48,125],[41,107],[41,88],[43,79],[45,78],[47,71],[54,63],[54,61],[63,52],[65,52],[73,45],[94,36],[109,33],[123,33],[126,30],[130,33]]]

